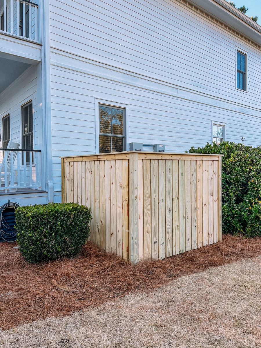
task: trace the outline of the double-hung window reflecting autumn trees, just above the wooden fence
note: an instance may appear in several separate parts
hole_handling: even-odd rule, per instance
[[[100,153],[125,150],[124,108],[99,104]]]

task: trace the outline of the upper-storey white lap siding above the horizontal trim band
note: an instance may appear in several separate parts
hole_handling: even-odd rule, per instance
[[[202,93],[261,105],[260,51],[171,0],[50,1],[51,46]],[[235,89],[236,46],[248,94]]]

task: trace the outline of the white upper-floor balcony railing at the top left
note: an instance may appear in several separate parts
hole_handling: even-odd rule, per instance
[[[0,0],[0,32],[38,39],[38,5],[23,0]]]

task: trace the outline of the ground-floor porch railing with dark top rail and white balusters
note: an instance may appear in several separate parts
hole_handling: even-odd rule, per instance
[[[17,188],[41,190],[41,150],[0,149],[0,151],[3,151],[0,190],[15,191]]]

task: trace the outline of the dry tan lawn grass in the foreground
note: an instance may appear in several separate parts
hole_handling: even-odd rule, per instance
[[[0,332],[1,348],[261,347],[261,257]]]

